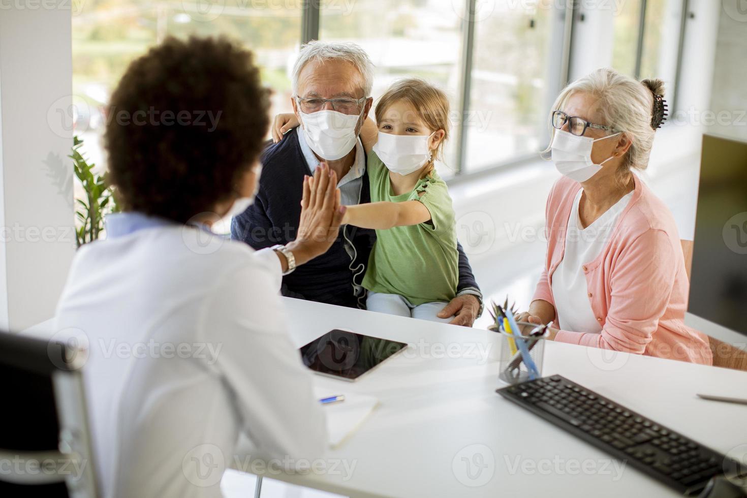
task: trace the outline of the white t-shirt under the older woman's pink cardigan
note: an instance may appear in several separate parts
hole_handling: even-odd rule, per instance
[[[594,261],[610,242],[633,192],[623,196],[586,228],[581,228],[578,214],[582,193],[583,189],[579,190],[574,199],[565,232],[565,254],[552,275],[553,299],[558,325],[562,330],[598,334],[602,327],[592,311],[583,265]]]

